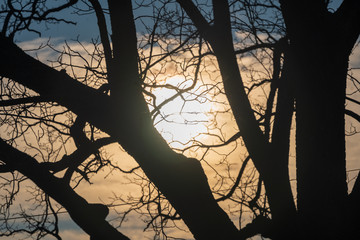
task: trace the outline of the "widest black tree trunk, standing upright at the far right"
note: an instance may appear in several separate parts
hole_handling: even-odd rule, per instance
[[[345,89],[359,1],[280,0],[296,82],[297,207],[303,238],[346,239]],[[304,17],[306,16],[306,17]]]

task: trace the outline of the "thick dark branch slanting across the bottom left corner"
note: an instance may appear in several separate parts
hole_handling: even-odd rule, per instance
[[[112,227],[99,204],[89,204],[61,179],[53,176],[29,155],[0,140],[0,158],[10,168],[30,178],[39,188],[69,212],[71,218],[91,237],[96,239],[129,239]]]

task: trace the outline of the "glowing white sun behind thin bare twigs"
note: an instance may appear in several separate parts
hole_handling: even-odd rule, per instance
[[[158,111],[153,111],[154,125],[171,146],[184,146],[207,132],[210,102],[204,90],[197,85],[176,96],[179,91],[193,84],[183,76],[170,77],[163,84],[167,87],[152,91],[156,96],[156,105],[161,106]]]

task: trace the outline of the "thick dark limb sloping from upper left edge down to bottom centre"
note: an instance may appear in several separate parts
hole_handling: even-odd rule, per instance
[[[140,87],[138,92],[134,86],[122,89],[119,102],[33,59],[5,37],[0,36],[0,44],[0,75],[54,99],[114,137],[167,197],[195,238],[237,234],[216,203],[199,161],[173,152],[153,127]]]

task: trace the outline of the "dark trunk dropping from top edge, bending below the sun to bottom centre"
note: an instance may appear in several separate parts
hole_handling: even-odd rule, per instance
[[[121,134],[127,138],[120,144],[166,196],[196,239],[235,239],[238,230],[216,203],[200,162],[172,151],[153,127],[138,75],[131,1],[108,3],[113,32],[110,97],[126,108]]]

